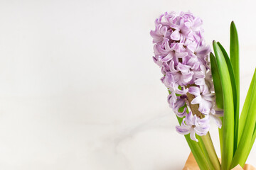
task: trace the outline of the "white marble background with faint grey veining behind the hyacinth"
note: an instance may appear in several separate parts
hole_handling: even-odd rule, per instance
[[[0,169],[182,169],[149,30],[192,11],[210,44],[240,37],[241,103],[256,65],[255,1],[0,1]],[[217,128],[211,128],[219,153]],[[256,166],[256,147],[248,163]]]

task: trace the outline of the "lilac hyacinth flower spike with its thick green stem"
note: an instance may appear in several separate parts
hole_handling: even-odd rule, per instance
[[[215,94],[210,73],[210,46],[203,38],[201,18],[192,13],[164,13],[151,30],[154,62],[161,67],[162,83],[169,90],[169,106],[201,169],[220,169],[210,140],[210,118],[221,127],[221,110],[215,111]],[[220,113],[220,114],[216,114]],[[218,115],[218,116],[217,116]],[[188,138],[189,135],[189,138]],[[193,142],[196,141],[196,142]],[[200,148],[196,150],[195,148]],[[199,160],[204,157],[205,159]],[[203,167],[204,166],[204,167]]]

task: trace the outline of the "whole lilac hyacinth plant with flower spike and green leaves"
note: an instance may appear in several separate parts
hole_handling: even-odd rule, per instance
[[[164,13],[150,35],[154,62],[161,67],[167,101],[176,113],[176,131],[185,136],[200,169],[244,166],[256,137],[255,74],[242,113],[239,47],[235,24],[230,26],[230,57],[213,41],[214,55],[203,38],[203,21],[191,12]],[[219,128],[221,165],[210,138],[210,119]]]

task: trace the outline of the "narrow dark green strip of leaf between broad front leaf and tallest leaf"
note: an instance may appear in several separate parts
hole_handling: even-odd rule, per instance
[[[218,46],[220,47],[221,51],[223,52],[223,55],[225,57],[225,61],[228,65],[228,72],[230,73],[230,80],[232,85],[232,91],[233,91],[233,101],[234,101],[234,123],[235,123],[235,130],[234,130],[234,152],[238,147],[238,125],[239,125],[239,98],[238,98],[238,91],[235,81],[235,74],[233,71],[233,65],[230,62],[230,59],[228,57],[228,53],[225,51],[224,47],[218,42]]]

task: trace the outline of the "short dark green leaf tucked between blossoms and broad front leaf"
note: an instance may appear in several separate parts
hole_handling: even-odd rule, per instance
[[[213,76],[216,105],[218,108],[223,109],[223,90],[220,82],[220,73],[218,72],[217,61],[213,53],[211,52],[210,52],[210,70]],[[220,119],[223,122],[223,118],[220,118]],[[218,129],[218,131],[219,131],[219,137],[220,137],[220,154],[222,154],[223,153],[223,128]]]

